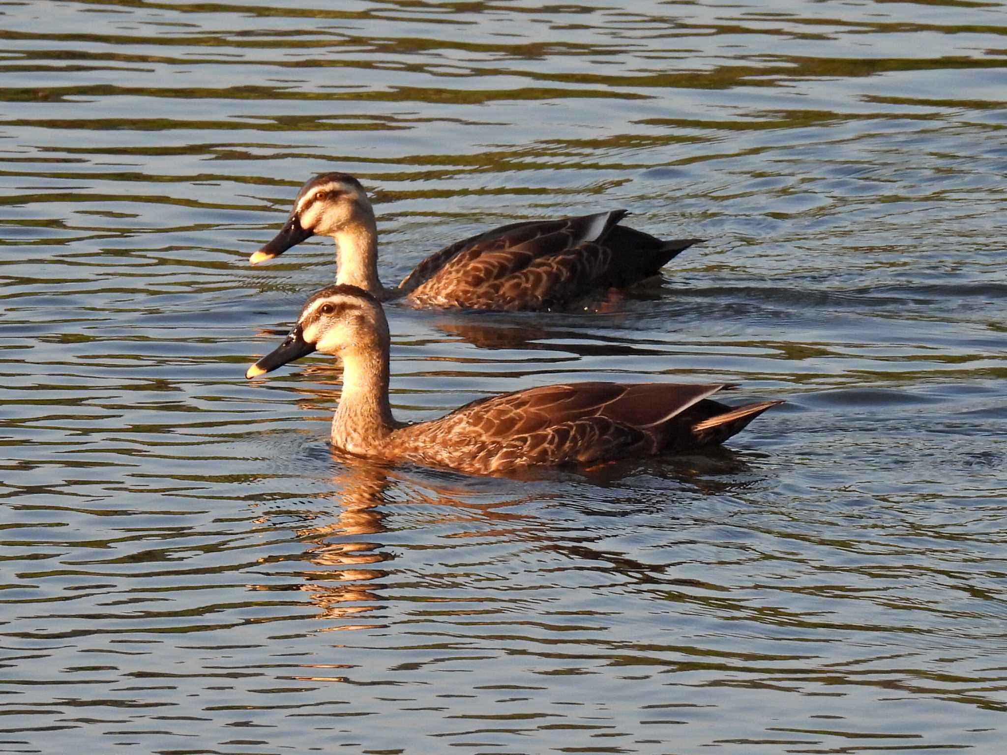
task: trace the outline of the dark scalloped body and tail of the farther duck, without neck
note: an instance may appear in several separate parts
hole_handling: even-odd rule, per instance
[[[665,242],[617,223],[624,209],[503,225],[452,244],[399,284],[418,306],[550,309],[657,275],[700,242]]]

